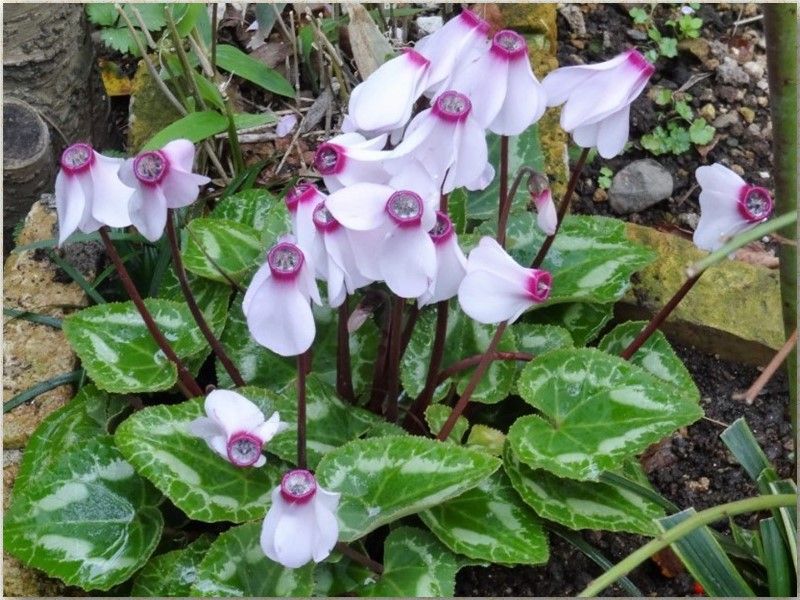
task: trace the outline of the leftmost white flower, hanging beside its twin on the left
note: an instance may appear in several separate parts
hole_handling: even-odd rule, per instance
[[[76,229],[91,233],[103,225],[131,224],[128,199],[133,189],[117,177],[122,162],[95,152],[89,144],[64,150],[55,185],[59,245]]]

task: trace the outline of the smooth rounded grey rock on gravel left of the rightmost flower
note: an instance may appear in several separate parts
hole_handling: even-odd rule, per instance
[[[639,212],[672,195],[672,175],[656,161],[646,158],[627,165],[611,182],[609,202],[614,212]]]

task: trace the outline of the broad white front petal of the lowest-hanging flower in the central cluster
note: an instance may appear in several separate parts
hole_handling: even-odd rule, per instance
[[[253,339],[281,356],[297,356],[309,349],[316,327],[308,296],[292,282],[270,277],[256,290],[247,313]]]

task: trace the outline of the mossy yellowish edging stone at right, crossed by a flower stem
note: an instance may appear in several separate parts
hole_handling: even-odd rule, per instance
[[[649,319],[683,285],[686,267],[707,253],[650,227],[628,224],[627,235],[654,249],[658,259],[638,272],[616,316]],[[662,329],[726,360],[765,365],[786,340],[778,272],[736,260],[719,263],[703,274]]]

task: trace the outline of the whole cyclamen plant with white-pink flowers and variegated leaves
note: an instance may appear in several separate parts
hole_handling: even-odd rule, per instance
[[[623,150],[653,67],[631,50],[539,83],[524,38],[488,31],[463,10],[358,85],[344,131],[316,151],[324,188],[300,182],[285,202],[233,195],[176,231],[209,183],[191,142],[124,162],[65,151],[59,240],[99,229],[132,303],[65,320],[94,386],[29,448],[74,443],[73,427],[96,439],[60,462],[26,451],[7,549],[85,589],[141,569],[134,592],[161,594],[149,586],[189,569],[179,595],[446,596],[459,565],[546,562],[546,529],[659,532],[666,501],[635,457],[702,416],[699,392],[657,331],[666,309],[581,347],[653,254],[619,222],[565,216],[588,149]],[[585,150],[556,210],[541,165],[511,164],[508,136],[528,143],[559,104]],[[721,165],[697,178],[700,247],[772,211]],[[494,222],[475,209],[487,193]],[[159,298],[142,300],[108,233],[129,225],[169,238]],[[197,380],[209,351],[218,389]],[[129,415],[119,395],[173,386],[185,402]],[[514,395],[529,414],[481,409]],[[101,509],[67,518],[99,494]],[[238,525],[148,562],[164,498],[195,523]],[[426,529],[401,526],[409,515]]]

